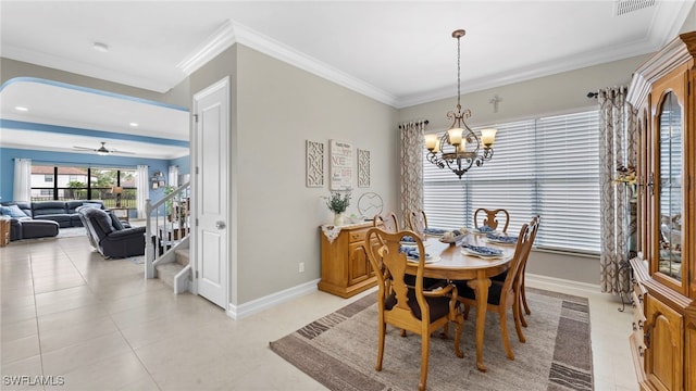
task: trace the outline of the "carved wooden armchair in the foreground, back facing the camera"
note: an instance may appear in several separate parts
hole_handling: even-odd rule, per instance
[[[415,238],[419,256],[415,285],[405,281],[407,257],[401,252],[401,240],[405,236]],[[382,243],[373,247],[368,243]],[[409,330],[421,336],[421,378],[419,390],[425,390],[427,380],[427,363],[430,356],[431,335],[444,329],[446,336],[450,321],[457,324],[455,331],[455,354],[463,357],[460,349],[463,316],[458,302],[457,288],[447,285],[443,289],[427,291],[423,289],[423,269],[425,267],[425,249],[423,242],[410,230],[396,234],[387,232],[380,228],[370,228],[365,235],[365,248],[368,258],[377,276],[377,310],[378,310],[378,338],[377,364],[375,369],[382,370],[384,345],[386,339],[386,326],[393,325],[402,330]],[[381,268],[380,265],[383,265]]]

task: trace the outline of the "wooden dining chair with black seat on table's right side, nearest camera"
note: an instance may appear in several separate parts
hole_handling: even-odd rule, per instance
[[[486,306],[487,312],[498,313],[500,323],[500,331],[502,336],[502,344],[508,358],[514,360],[514,353],[510,348],[510,340],[508,337],[508,317],[507,311],[512,310],[514,318],[514,328],[518,333],[520,342],[525,342],[524,335],[522,333],[522,321],[520,314],[520,294],[519,287],[521,283],[521,275],[524,269],[524,262],[526,261],[525,254],[532,248],[532,238],[538,227],[538,219],[534,217],[530,224],[524,224],[520,229],[520,236],[518,237],[517,247],[514,249],[514,255],[510,261],[510,267],[504,281],[497,281],[492,279],[490,287],[488,288],[488,303]],[[467,281],[456,281],[455,286],[459,292],[459,301],[464,304],[464,319],[469,315],[471,306],[476,306],[476,294],[474,289],[469,287]]]

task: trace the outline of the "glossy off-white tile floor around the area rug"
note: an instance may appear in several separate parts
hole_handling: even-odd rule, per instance
[[[3,390],[323,390],[269,342],[348,302],[316,291],[233,320],[203,299],[145,280],[142,265],[104,261],[86,238],[13,242],[0,249],[0,265]],[[591,300],[596,390],[636,390],[631,308],[563,291]],[[28,378],[17,387],[8,384],[11,375]],[[37,375],[53,386],[27,384]]]

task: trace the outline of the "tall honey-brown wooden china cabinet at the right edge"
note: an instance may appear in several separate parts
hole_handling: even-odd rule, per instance
[[[638,245],[630,341],[641,390],[696,390],[696,31],[638,67]]]

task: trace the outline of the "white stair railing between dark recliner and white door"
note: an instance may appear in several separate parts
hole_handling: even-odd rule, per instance
[[[158,202],[146,200],[145,277],[156,278],[154,266],[171,257],[174,250],[188,243],[190,234],[190,182],[186,182]]]

